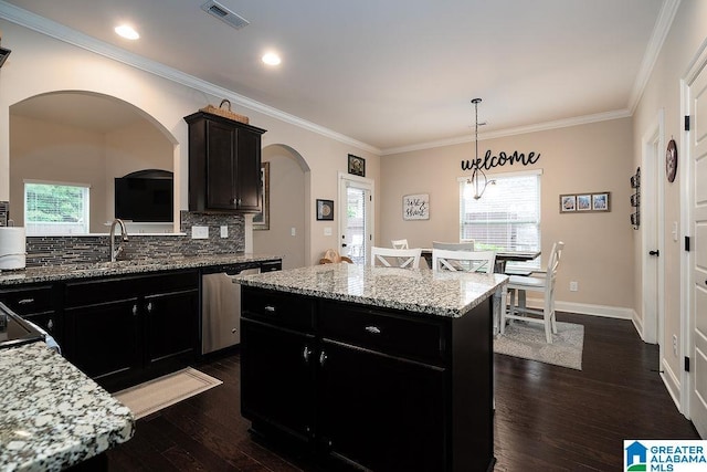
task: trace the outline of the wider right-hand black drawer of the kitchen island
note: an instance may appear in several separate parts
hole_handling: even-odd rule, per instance
[[[384,354],[441,365],[445,359],[443,321],[411,319],[394,313],[325,302],[319,313],[323,338]]]

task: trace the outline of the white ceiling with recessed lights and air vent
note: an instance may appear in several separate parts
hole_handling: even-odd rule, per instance
[[[471,139],[474,97],[486,136],[629,116],[664,1],[219,0],[240,30],[205,0],[0,0],[0,17],[20,7],[388,154]]]

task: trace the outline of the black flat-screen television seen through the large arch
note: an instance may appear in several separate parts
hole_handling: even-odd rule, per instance
[[[115,217],[135,222],[171,222],[173,179],[135,177],[134,174],[115,179]]]

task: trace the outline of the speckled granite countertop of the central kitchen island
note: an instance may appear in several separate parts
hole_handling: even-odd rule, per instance
[[[299,295],[458,317],[499,293],[508,276],[338,263],[236,275],[234,282]]]

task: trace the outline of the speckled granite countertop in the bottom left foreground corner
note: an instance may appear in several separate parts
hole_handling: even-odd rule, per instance
[[[134,431],[127,407],[44,343],[0,349],[1,471],[60,471]]]

